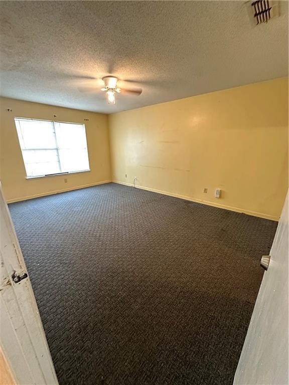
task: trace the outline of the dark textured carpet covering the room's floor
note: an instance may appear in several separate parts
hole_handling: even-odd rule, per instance
[[[276,222],[114,183],[9,208],[61,385],[232,384]]]

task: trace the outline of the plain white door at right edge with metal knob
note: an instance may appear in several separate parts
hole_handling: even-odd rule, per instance
[[[234,385],[287,385],[288,194],[235,373]]]

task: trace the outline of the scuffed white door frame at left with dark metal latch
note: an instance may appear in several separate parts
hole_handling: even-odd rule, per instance
[[[57,377],[1,185],[0,206],[1,347],[18,385],[55,385]]]

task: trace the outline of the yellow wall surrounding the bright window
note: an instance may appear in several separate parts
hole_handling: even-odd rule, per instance
[[[107,115],[7,98],[0,99],[0,114],[0,179],[9,202],[110,181]],[[85,123],[91,171],[26,179],[14,117]]]

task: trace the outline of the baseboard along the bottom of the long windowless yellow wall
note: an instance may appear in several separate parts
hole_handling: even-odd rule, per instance
[[[113,183],[118,183],[118,184],[124,184],[125,186],[133,186],[133,183],[126,183],[126,182],[121,182],[119,180],[112,180]],[[201,199],[196,199],[196,198],[191,198],[191,197],[186,197],[180,194],[174,194],[174,193],[168,193],[168,191],[163,191],[163,190],[157,190],[155,188],[150,188],[150,187],[145,187],[145,186],[139,186],[136,185],[136,188],[140,188],[142,190],[148,190],[152,191],[153,193],[158,193],[158,194],[163,194],[163,195],[168,195],[169,197],[174,197],[174,198],[180,198],[184,199],[186,201],[191,201],[191,202],[196,202],[196,203],[201,203],[203,205],[208,205],[208,206],[213,206],[213,207],[218,207],[219,209],[225,209],[229,211],[235,211],[237,213],[243,213],[247,215],[251,215],[253,217],[259,217],[259,218],[264,218],[264,219],[270,219],[271,221],[279,221],[278,217],[275,217],[273,215],[268,215],[268,214],[263,214],[263,213],[258,213],[255,211],[250,211],[250,210],[244,210],[240,209],[238,207],[232,207],[232,206],[226,206],[226,205],[220,205],[218,203],[210,202],[210,201],[203,201]]]

